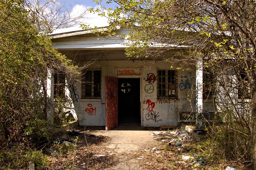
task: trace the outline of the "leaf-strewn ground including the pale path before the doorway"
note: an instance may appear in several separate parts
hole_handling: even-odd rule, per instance
[[[54,144],[49,155],[50,165],[54,170],[153,170],[170,169],[170,160],[163,157],[168,139],[160,134],[170,135],[167,130],[141,126],[118,126],[106,131],[105,127],[79,127],[76,149],[67,151],[63,144]],[[76,136],[62,134],[59,138],[74,141]],[[164,141],[164,142],[163,142]],[[156,149],[157,148],[157,149]],[[160,151],[161,150],[161,151]],[[162,154],[160,154],[162,152]],[[174,154],[172,154],[173,156]],[[159,162],[165,160],[166,162]],[[162,164],[160,164],[162,163]],[[159,166],[159,167],[156,167]]]

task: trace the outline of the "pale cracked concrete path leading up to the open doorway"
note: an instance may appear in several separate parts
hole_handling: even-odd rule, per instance
[[[160,132],[159,128],[147,128],[138,125],[121,125],[106,131],[104,127],[86,127],[86,134],[102,135],[110,138],[104,145],[112,153],[118,154],[119,163],[112,170],[137,170],[139,161],[130,158],[129,153],[146,148],[153,144],[154,133]]]

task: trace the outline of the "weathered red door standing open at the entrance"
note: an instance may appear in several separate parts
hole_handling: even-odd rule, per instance
[[[106,130],[118,126],[118,78],[105,76]]]

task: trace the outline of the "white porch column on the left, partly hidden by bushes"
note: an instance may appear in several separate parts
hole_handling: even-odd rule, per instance
[[[47,75],[46,95],[47,95],[46,118],[47,120],[50,120],[50,124],[53,124],[54,77],[50,70],[48,70],[48,75]]]

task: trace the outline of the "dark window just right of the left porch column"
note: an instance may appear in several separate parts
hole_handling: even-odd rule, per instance
[[[65,74],[54,74],[54,97],[65,95]]]

